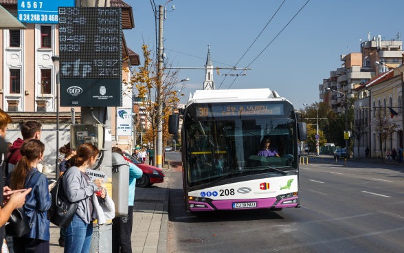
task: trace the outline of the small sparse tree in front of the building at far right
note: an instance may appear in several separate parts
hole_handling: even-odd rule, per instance
[[[386,108],[383,107],[375,107],[374,117],[372,118],[372,124],[374,125],[374,131],[376,131],[379,137],[379,146],[381,147],[381,162],[384,161],[384,152],[383,152],[383,142],[390,140],[393,133],[397,130],[397,125],[392,123],[388,118],[390,115]],[[386,147],[385,147],[386,148]],[[384,148],[384,149],[385,149]]]

